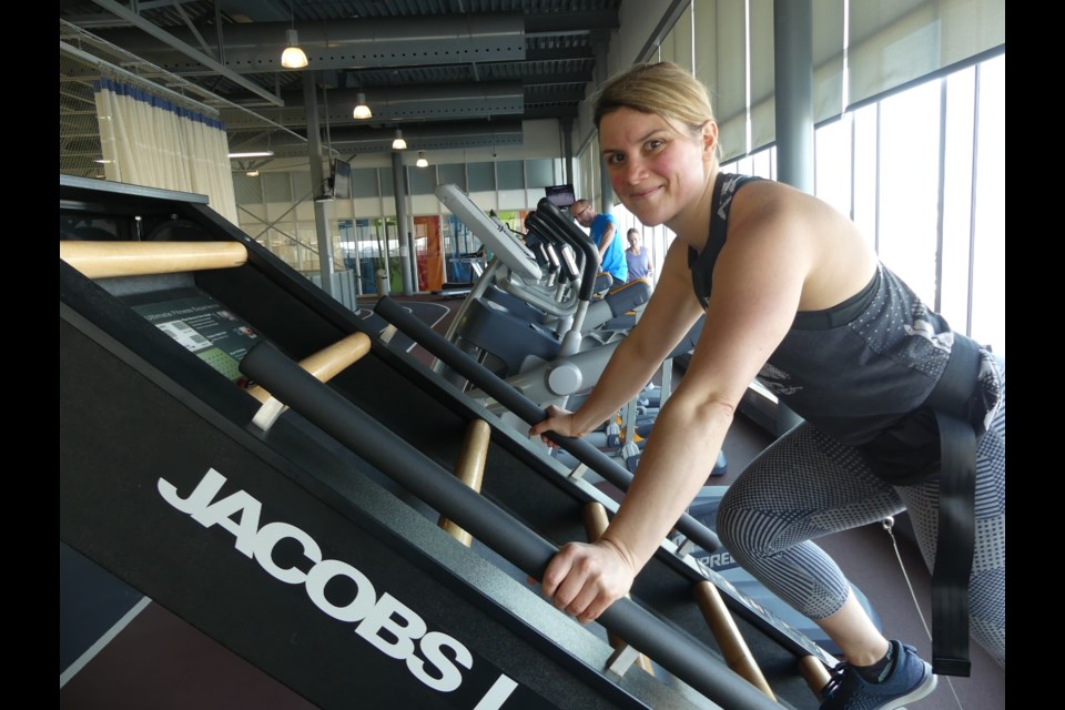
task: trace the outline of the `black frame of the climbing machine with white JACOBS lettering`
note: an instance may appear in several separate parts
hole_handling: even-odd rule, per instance
[[[196,196],[67,176],[60,179],[60,191],[61,216],[110,215],[129,223],[140,217],[136,222],[149,225],[160,240],[244,244],[248,253],[244,266],[202,272],[191,281],[240,313],[286,359],[301,359],[363,328],[353,313]],[[123,236],[113,235],[115,241]],[[111,280],[104,287],[60,263],[62,541],[322,707],[344,704],[353,693],[362,698],[376,693],[389,703],[406,697],[427,708],[474,707],[504,677],[515,683],[507,708],[677,702],[647,676],[604,673],[604,655],[609,651],[605,643],[575,629],[513,574],[455,544],[419,511],[426,501],[412,505],[409,491],[300,412],[282,417],[270,433],[255,428],[254,399],[123,302],[125,293],[187,284],[190,276],[160,277],[151,284],[134,281]],[[356,403],[382,426],[402,429],[407,444],[427,452],[436,466],[454,462],[465,424],[475,418],[493,423],[493,465],[521,469],[524,478],[516,483],[513,476],[494,476],[486,496],[508,515],[534,521],[540,534],[550,539],[576,537],[576,513],[571,524],[545,519],[555,520],[558,510],[576,504],[607,499],[560,476],[558,465],[545,460],[528,440],[497,426],[490,413],[405,353],[375,337],[367,359],[322,387]],[[402,402],[379,396],[389,387],[402,388],[397,397]],[[419,412],[417,420],[412,420],[414,410]],[[227,510],[223,505],[205,526],[174,500],[195,498],[211,471],[225,480],[210,499],[203,494],[200,517],[211,520],[211,505],[226,500],[232,510],[223,515]],[[535,506],[529,504],[532,489]],[[169,498],[164,491],[170,491]],[[427,630],[417,639],[412,636],[412,643],[432,632],[457,639],[470,651],[478,672],[463,671],[458,652],[439,636],[432,637],[438,643],[436,656],[424,649],[403,658],[398,649],[396,655],[382,651],[388,643],[381,635],[375,646],[367,638],[373,637],[371,631],[353,633],[362,620],[338,620],[324,612],[323,605],[308,601],[310,592],[301,584],[276,578],[271,565],[298,569],[296,577],[308,577],[318,567],[314,555],[292,549],[291,540],[285,549],[267,546],[265,566],[256,557],[255,540],[262,540],[262,530],[288,530],[286,525],[314,540],[323,560],[364,570],[372,587],[384,590],[375,594],[373,608],[387,595],[422,619]],[[546,538],[545,544],[547,551]],[[668,550],[659,557],[640,588],[653,589],[650,597],[663,590],[672,594],[702,576],[697,565]],[[329,594],[357,599],[358,579],[348,577],[354,581],[345,588],[342,580],[341,590]],[[323,604],[344,606],[336,599]],[[757,615],[747,620],[773,635],[782,658],[823,655],[787,632],[767,629]],[[688,632],[673,631],[681,635],[677,638],[689,639]],[[298,643],[293,642],[294,635]],[[712,647],[708,638],[707,633],[691,638],[691,652],[706,653]],[[442,648],[450,650],[442,657]],[[704,692],[728,698],[730,707],[765,706],[767,699],[746,681],[712,655],[707,658],[710,667],[701,672],[714,682],[708,682]],[[353,662],[365,662],[365,669],[353,673]],[[446,684],[443,677],[454,680],[458,673],[462,682],[454,691],[435,690],[412,670],[418,663],[430,681]],[[412,674],[423,682],[410,682]],[[367,682],[369,678],[375,682]]]

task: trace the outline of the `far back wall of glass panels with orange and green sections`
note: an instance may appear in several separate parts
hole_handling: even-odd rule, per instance
[[[525,215],[558,184],[560,159],[493,161],[405,166],[407,232],[413,237],[417,291],[432,292],[446,282],[469,283],[470,254],[480,242],[439,204],[434,191],[453,183],[487,214],[495,211],[511,230],[525,232]],[[241,229],[286,263],[313,276],[320,272],[317,230],[307,172],[234,175]],[[354,168],[352,199],[324,206],[334,244],[334,268],[352,271],[359,294],[376,293],[378,270],[388,275],[392,293],[402,293],[400,248],[392,168]],[[335,231],[334,226],[335,225]],[[387,266],[386,266],[387,264]]]

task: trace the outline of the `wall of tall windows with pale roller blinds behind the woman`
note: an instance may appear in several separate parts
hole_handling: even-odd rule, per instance
[[[690,22],[648,58],[693,68],[711,90],[722,168],[767,178],[777,176],[771,4],[694,0]],[[1004,3],[814,0],[812,12],[815,194],[955,331],[1004,354]],[[599,194],[597,160],[592,136],[579,196]],[[613,214],[665,254],[669,230],[642,227],[620,204]]]

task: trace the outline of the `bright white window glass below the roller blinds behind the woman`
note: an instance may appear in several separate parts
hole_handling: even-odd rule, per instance
[[[1005,354],[1005,55],[815,131],[815,193],[950,322]],[[723,170],[775,176],[775,151]],[[623,210],[623,207],[622,207]],[[671,237],[671,235],[670,235]]]

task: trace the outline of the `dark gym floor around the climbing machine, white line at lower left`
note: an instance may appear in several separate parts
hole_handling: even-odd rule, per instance
[[[462,304],[457,298],[423,296],[397,301],[437,304],[426,310],[433,312],[427,317],[435,321],[434,328],[440,333],[446,331]],[[373,300],[367,300],[365,306],[372,308],[372,305]],[[410,352],[427,364],[432,362],[417,346]],[[713,479],[713,484],[729,485],[770,442],[763,428],[738,416],[724,443],[728,473]],[[821,545],[865,592],[885,627],[885,635],[913,643],[929,658],[931,641],[921,613],[925,619],[931,618],[930,575],[909,538],[896,532],[893,544],[881,525],[872,525],[830,536]],[[113,594],[90,606],[75,590],[110,576],[62,544],[60,559],[61,708],[298,710],[314,707],[121,582],[113,581]],[[913,596],[907,580],[913,586]],[[914,598],[920,601],[920,613]],[[941,678],[936,692],[913,708],[1005,708],[1004,669],[975,643],[971,656],[971,678]]]

